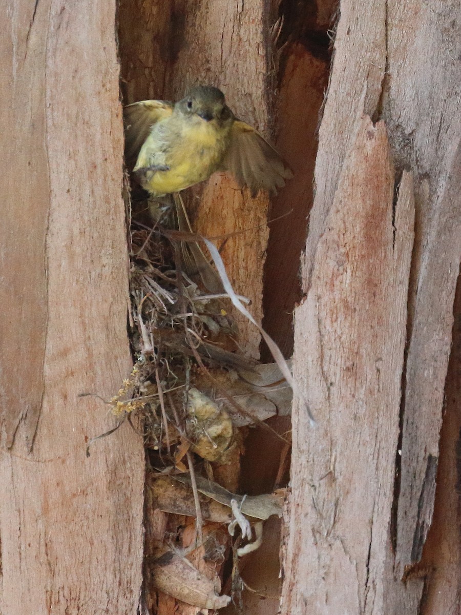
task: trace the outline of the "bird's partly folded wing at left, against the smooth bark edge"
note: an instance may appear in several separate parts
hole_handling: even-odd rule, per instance
[[[128,165],[134,165],[141,146],[153,124],[169,117],[173,103],[165,100],[141,100],[124,108],[125,158]]]

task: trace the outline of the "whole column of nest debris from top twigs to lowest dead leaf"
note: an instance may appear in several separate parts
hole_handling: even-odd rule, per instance
[[[210,579],[198,569],[191,572],[191,563],[178,557],[168,539],[147,542],[148,593],[161,589],[200,608],[222,608],[230,597],[219,595],[216,563],[221,565],[232,550],[229,590],[238,599],[243,585],[237,559],[259,546],[262,520],[280,515],[282,505],[280,494],[245,501],[245,496],[226,491],[213,482],[213,468],[238,459],[242,427],[258,423],[270,429],[264,419],[288,413],[291,390],[277,365],[255,366],[238,351],[223,274],[211,267],[190,226],[181,228],[178,200],[166,207],[140,200],[135,209],[149,209],[155,223],[150,218],[143,221],[141,213],[130,230],[129,334],[134,366],[109,403],[120,418],[115,429],[128,420],[143,435],[148,450],[146,526],[154,523],[149,518],[152,510],[164,510],[173,514],[169,523],[174,536],[181,523],[175,525],[174,518],[191,515],[195,535],[189,550],[201,549],[202,561],[214,562]],[[229,531],[223,534],[224,524]],[[230,545],[229,534],[234,536],[236,526],[240,536]]]

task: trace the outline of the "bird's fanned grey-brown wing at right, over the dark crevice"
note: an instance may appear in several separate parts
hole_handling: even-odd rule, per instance
[[[260,189],[277,194],[293,173],[272,145],[249,124],[235,120],[230,145],[223,161],[223,170],[230,171],[240,187],[248,186],[251,196]]]

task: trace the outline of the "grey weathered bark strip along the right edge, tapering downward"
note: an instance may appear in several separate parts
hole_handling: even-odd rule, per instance
[[[433,511],[461,255],[461,81],[454,60],[459,57],[459,2],[389,4],[384,114],[396,161],[417,177],[397,574],[420,560]]]

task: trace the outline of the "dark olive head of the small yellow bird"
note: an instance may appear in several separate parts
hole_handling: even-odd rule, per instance
[[[226,105],[223,92],[211,85],[197,85],[175,108],[186,116],[197,116],[205,122],[223,126],[234,121],[234,114]]]

